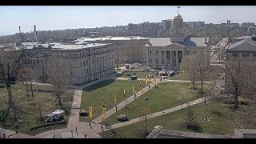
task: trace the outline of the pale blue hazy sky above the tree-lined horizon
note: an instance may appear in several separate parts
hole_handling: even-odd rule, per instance
[[[64,30],[173,19],[177,6],[0,6],[0,35],[34,30]],[[181,6],[185,22],[255,22],[256,6]]]

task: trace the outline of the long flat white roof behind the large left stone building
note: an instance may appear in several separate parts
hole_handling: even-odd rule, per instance
[[[84,42],[93,42],[93,41],[124,41],[124,40],[135,40],[135,39],[146,39],[143,37],[111,37],[106,36],[102,38],[84,38]]]

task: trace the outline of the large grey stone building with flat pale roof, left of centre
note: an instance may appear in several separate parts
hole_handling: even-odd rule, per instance
[[[65,45],[60,43],[23,46],[25,57],[22,64],[44,72],[45,64],[52,58],[59,58],[70,66],[74,85],[82,85],[108,74],[114,73],[113,44],[80,43]]]

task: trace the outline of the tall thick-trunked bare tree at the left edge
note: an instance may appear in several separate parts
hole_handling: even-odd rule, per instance
[[[2,82],[5,84],[8,93],[8,107],[7,110],[1,114],[0,120],[7,117],[10,109],[14,110],[14,119],[17,120],[11,80],[14,78],[21,58],[22,52],[17,50],[13,41],[0,41],[0,77],[2,78]]]

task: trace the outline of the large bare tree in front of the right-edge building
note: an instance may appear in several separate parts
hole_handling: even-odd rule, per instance
[[[251,61],[242,58],[226,60],[224,87],[227,94],[232,94],[235,109],[238,109],[238,98],[245,94],[247,86],[250,86],[250,79],[255,76],[254,66]]]

